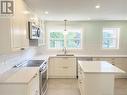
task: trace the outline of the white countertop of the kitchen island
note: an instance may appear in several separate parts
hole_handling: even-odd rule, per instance
[[[125,73],[123,70],[106,61],[78,61],[84,73]]]

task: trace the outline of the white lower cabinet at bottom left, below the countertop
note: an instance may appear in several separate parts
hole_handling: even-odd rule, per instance
[[[33,76],[29,83],[0,83],[0,95],[40,95],[39,75]]]

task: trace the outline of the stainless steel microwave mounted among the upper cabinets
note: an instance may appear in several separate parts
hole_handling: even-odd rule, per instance
[[[34,22],[28,22],[29,39],[39,39],[41,34],[41,28]]]

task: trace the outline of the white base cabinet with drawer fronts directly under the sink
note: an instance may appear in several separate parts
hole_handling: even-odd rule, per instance
[[[51,57],[48,76],[49,78],[76,78],[76,58]]]

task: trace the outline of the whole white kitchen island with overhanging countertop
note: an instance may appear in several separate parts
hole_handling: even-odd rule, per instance
[[[106,61],[78,61],[81,95],[114,95],[114,79],[123,70]]]

